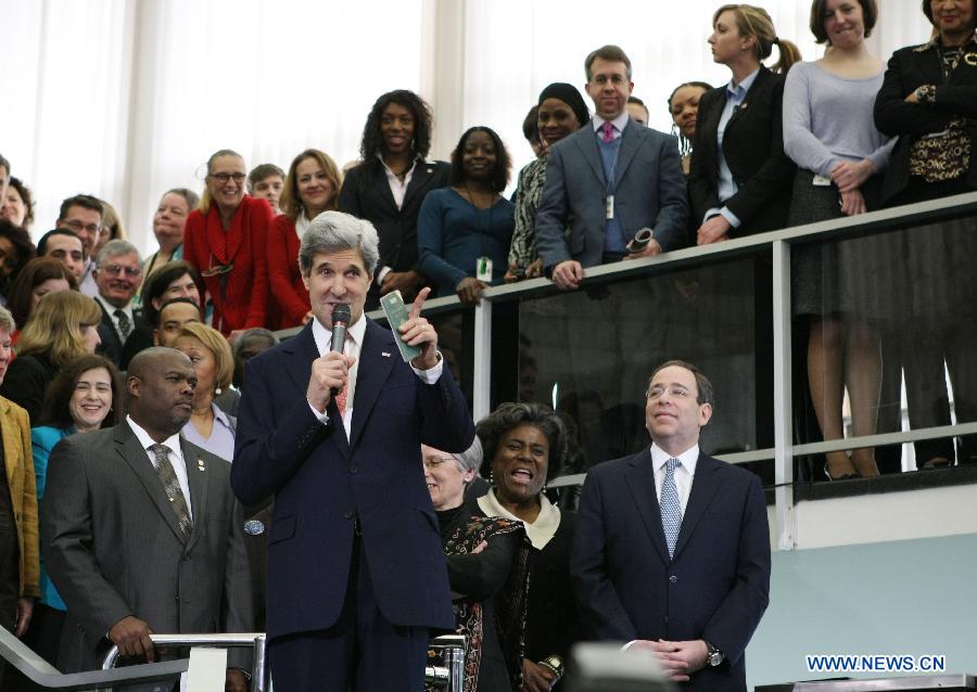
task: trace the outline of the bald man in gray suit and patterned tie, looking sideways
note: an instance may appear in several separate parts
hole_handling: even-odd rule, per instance
[[[64,439],[48,465],[41,544],[68,607],[65,671],[100,668],[111,643],[153,661],[152,632],[253,627],[230,465],[179,436],[196,385],[190,359],[143,350],[126,385],[126,420]],[[227,682],[246,688],[238,669]]]

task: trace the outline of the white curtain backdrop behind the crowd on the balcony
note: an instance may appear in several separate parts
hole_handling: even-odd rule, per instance
[[[804,59],[820,56],[808,2],[756,3]],[[727,80],[706,44],[719,4],[627,0],[607,17],[608,5],[583,0],[3,0],[0,153],[34,191],[35,239],[62,198],[88,192],[116,206],[147,253],[161,194],[201,190],[212,152],[286,168],[317,146],[343,165],[391,89],[434,106],[436,157],[466,127],[495,128],[515,179],[532,156],[530,105],[551,81],[583,90],[583,60],[602,43],[631,56],[658,129],[671,126],[676,85]],[[928,30],[915,0],[890,1],[871,44],[888,57]]]

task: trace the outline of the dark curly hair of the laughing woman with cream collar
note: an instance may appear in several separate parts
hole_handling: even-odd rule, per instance
[[[492,461],[498,451],[503,436],[520,425],[532,425],[549,441],[547,478],[556,478],[567,461],[569,435],[562,419],[551,408],[543,403],[513,402],[499,403],[492,413],[479,421],[475,434],[482,441],[482,465],[479,475],[487,478],[492,472]]]

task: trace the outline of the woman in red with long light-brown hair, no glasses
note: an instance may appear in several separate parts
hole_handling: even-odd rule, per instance
[[[268,280],[272,304],[278,306],[278,329],[305,324],[312,319],[308,290],[299,272],[299,243],[309,222],[322,212],[335,209],[342,180],[328,154],[307,149],[292,161],[281,193],[284,214],[271,222],[268,236]]]

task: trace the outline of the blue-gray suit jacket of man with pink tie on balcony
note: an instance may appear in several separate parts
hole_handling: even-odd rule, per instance
[[[621,132],[614,177],[614,213],[625,238],[647,227],[663,251],[689,244],[685,176],[674,137],[629,120]],[[601,264],[607,190],[597,137],[588,121],[557,142],[546,164],[546,185],[536,209],[536,247],[547,270],[568,259],[584,267]]]

